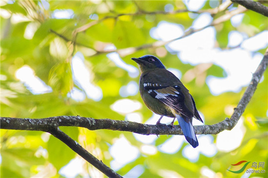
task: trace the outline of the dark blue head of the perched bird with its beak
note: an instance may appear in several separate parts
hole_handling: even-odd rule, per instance
[[[162,62],[153,55],[144,55],[139,58],[131,58],[140,67],[140,71],[152,71],[154,69],[166,69]]]

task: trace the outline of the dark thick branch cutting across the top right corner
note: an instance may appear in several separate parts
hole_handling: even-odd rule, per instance
[[[261,4],[260,2],[256,2],[253,0],[231,0],[232,2],[236,2],[240,5],[243,5],[247,9],[250,9],[252,11],[255,11],[259,14],[262,14],[266,17],[268,17],[268,7]]]

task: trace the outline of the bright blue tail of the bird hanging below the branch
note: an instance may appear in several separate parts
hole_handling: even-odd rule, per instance
[[[196,147],[199,145],[196,135],[194,133],[193,130],[193,126],[191,124],[191,120],[187,119],[187,121],[185,121],[185,119],[183,119],[180,115],[176,114],[176,118],[179,122],[179,125],[182,129],[182,132],[186,138],[186,140],[192,145],[192,147]]]

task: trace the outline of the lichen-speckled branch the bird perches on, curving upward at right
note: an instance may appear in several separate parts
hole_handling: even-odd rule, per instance
[[[218,134],[223,130],[231,130],[245,111],[245,108],[249,104],[257,85],[267,69],[268,65],[268,50],[265,53],[261,63],[257,70],[253,73],[251,82],[246,89],[243,97],[239,101],[237,107],[230,119],[214,124],[214,125],[197,125],[194,126],[196,134]],[[140,124],[129,121],[118,121],[111,119],[93,119],[80,116],[56,116],[44,119],[19,119],[1,117],[1,129],[15,129],[15,130],[38,130],[50,132],[51,128],[58,126],[79,126],[85,127],[89,130],[97,129],[110,129],[129,131],[143,135],[157,134],[157,135],[182,135],[182,130],[179,125],[174,128],[167,125],[148,125]]]

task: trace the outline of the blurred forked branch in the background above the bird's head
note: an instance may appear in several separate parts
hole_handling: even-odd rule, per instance
[[[197,14],[201,14],[201,13],[204,13],[204,12],[208,12],[211,14],[211,16],[219,13],[219,12],[222,12],[222,11],[225,11],[229,6],[231,5],[231,1],[230,0],[226,0],[225,2],[223,2],[222,4],[220,4],[218,7],[215,7],[215,8],[212,8],[212,9],[207,9],[207,10],[199,10],[199,11],[189,11],[187,9],[179,9],[179,10],[175,10],[175,11],[172,11],[172,12],[166,12],[166,11],[154,11],[154,12],[148,12],[148,11],[144,11],[144,10],[139,10],[138,12],[136,13],[125,13],[125,14],[117,14],[115,16],[106,16],[104,18],[101,18],[99,20],[94,20],[94,21],[91,21],[81,27],[78,27],[74,32],[73,32],[73,36],[76,36],[78,33],[80,32],[84,32],[86,31],[87,29],[89,29],[90,27],[106,20],[106,19],[110,19],[110,18],[119,18],[121,16],[137,16],[137,15],[156,15],[156,14],[162,14],[162,15],[169,15],[169,14],[178,14],[178,13],[185,13],[185,12],[190,12],[190,13],[197,13]],[[183,36],[180,36],[178,38],[175,38],[175,39],[172,39],[172,40],[169,40],[169,41],[156,41],[152,44],[145,44],[145,45],[141,45],[141,46],[138,46],[138,47],[129,47],[129,48],[124,48],[124,49],[113,49],[113,50],[105,50],[105,51],[97,51],[96,49],[93,49],[96,51],[96,53],[92,54],[91,56],[95,56],[95,55],[99,55],[99,54],[106,54],[106,53],[112,53],[112,52],[117,52],[121,57],[124,57],[126,55],[129,55],[129,54],[132,54],[136,51],[139,51],[139,50],[143,50],[143,49],[148,49],[148,48],[156,48],[156,47],[161,47],[161,46],[164,46],[166,44],[169,44],[171,43],[172,41],[175,41],[175,40],[178,40],[178,39],[181,39],[181,38],[184,38],[186,36],[190,36],[192,35],[193,33],[195,32],[199,32],[201,30],[204,30],[205,28],[208,28],[208,27],[211,27],[211,26],[215,26],[215,25],[218,25],[224,21],[227,21],[229,20],[231,17],[233,17],[234,15],[237,15],[237,14],[240,14],[240,13],[243,13],[245,12],[247,9],[242,7],[242,6],[239,6],[237,9],[233,10],[233,11],[227,11],[224,15],[222,15],[221,17],[213,20],[211,22],[211,24],[203,27],[203,28],[200,28],[200,29],[191,29],[186,31],[185,34]],[[61,34],[58,34],[56,31],[54,30],[50,30],[50,32],[56,34],[57,36],[61,37],[62,39],[64,39],[65,41],[72,41],[74,42],[72,39],[69,39],[67,38],[66,36],[63,36]],[[80,43],[76,43],[77,45],[81,45],[81,46],[85,46],[84,44],[80,44]],[[91,47],[88,47],[88,46],[85,46],[87,48],[90,48],[92,49]]]

